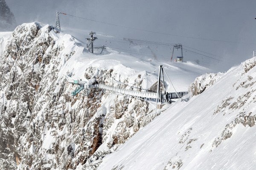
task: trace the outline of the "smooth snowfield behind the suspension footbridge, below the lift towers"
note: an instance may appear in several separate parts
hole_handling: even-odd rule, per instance
[[[81,40],[85,40],[84,34],[87,34],[87,32],[89,31],[64,27],[62,28],[60,37],[64,36],[65,34],[71,34],[76,42],[76,45],[86,48],[86,42]],[[97,43],[97,41],[95,43]],[[193,82],[196,77],[207,72],[212,72],[212,70],[200,65],[196,65],[192,62],[170,62],[169,59],[158,60],[154,59],[151,55],[144,55],[144,53],[137,55],[130,53],[129,51],[120,51],[115,48],[115,45],[118,45],[118,43],[112,42],[111,46],[107,45],[107,49],[103,51],[103,53],[105,52],[103,55],[90,54],[87,50],[86,52],[81,51],[78,55],[74,55],[73,59],[67,61],[67,65],[64,65],[64,70],[72,70],[73,79],[83,80],[83,70],[85,70],[85,68],[88,66],[113,69],[114,73],[119,72],[117,74],[122,75],[120,77],[121,81],[129,77],[128,83],[133,83],[134,78],[131,78],[133,75],[137,77],[137,74],[142,74],[142,79],[145,78],[143,88],[149,88],[154,82],[157,81],[159,71],[156,70],[151,76],[154,78],[149,79],[148,75],[151,74],[151,72],[154,71],[159,65],[163,65],[177,91],[188,91],[189,84]],[[117,48],[123,48],[122,46],[117,46]],[[131,48],[136,50],[138,54],[140,51],[147,51],[151,53],[147,46],[134,44],[131,46]],[[165,77],[165,81],[167,83],[167,91],[175,92],[167,77]]]

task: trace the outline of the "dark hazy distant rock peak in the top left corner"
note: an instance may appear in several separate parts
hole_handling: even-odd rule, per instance
[[[5,0],[0,0],[0,31],[12,31],[16,26],[15,17]]]

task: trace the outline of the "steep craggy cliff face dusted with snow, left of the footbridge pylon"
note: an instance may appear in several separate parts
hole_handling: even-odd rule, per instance
[[[76,75],[77,60],[88,51],[52,26],[17,26],[3,48],[0,169],[95,169],[102,157],[157,116],[149,114],[154,108],[144,100],[104,94],[101,89],[72,97],[76,87],[65,75]],[[124,69],[89,65],[76,72],[92,84],[129,88],[113,82],[128,82],[120,79]],[[132,81],[141,88],[139,75]]]

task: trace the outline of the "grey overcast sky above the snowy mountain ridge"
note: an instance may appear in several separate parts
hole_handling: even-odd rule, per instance
[[[238,65],[252,57],[256,50],[255,0],[6,0],[6,3],[17,24],[38,21],[55,25],[56,11],[60,11],[146,30],[60,16],[63,27],[92,30],[115,37],[182,43],[215,54],[222,57],[222,61],[214,66],[216,71]],[[84,35],[84,40],[87,36]],[[188,51],[183,53],[184,57],[195,55]]]

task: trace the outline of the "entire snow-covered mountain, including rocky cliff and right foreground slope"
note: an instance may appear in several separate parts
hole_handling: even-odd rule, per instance
[[[42,23],[0,33],[1,169],[209,169],[221,159],[218,148],[233,144],[237,127],[247,125],[246,116],[254,125],[254,58],[226,74],[205,74],[210,70],[190,62],[159,62],[113,48],[94,55],[84,47]],[[159,65],[172,80],[168,92],[172,84],[190,91],[161,114],[151,100],[101,89],[73,97],[76,85],[65,79],[154,89]]]

